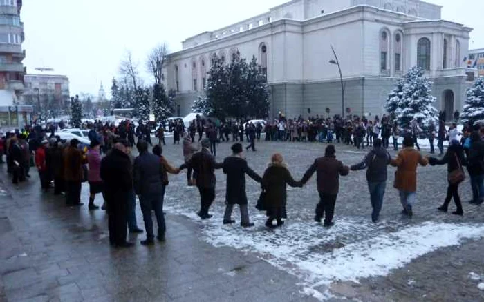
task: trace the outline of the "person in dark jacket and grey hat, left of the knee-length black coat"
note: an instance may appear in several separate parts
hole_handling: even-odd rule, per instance
[[[210,139],[202,140],[202,150],[196,152],[189,161],[180,166],[180,170],[193,168],[196,175],[196,186],[200,192],[201,208],[198,216],[201,219],[212,218],[208,214],[210,205],[215,199],[215,169],[223,168],[223,163],[217,163],[215,157],[210,154]]]

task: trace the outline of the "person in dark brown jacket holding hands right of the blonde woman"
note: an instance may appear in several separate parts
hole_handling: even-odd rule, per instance
[[[339,175],[346,176],[350,171],[348,166],[343,165],[341,161],[336,159],[335,153],[335,146],[328,145],[324,157],[316,159],[301,179],[301,183],[304,185],[316,172],[319,203],[316,206],[315,221],[320,223],[325,216],[325,227],[334,225],[333,215],[335,214],[335,203],[339,192]]]

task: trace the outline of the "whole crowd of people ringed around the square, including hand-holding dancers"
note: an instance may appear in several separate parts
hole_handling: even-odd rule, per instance
[[[236,123],[236,126],[231,123],[221,123],[217,126],[215,123],[197,118],[187,129],[180,121],[174,121],[169,125],[169,130],[179,132],[179,137],[175,137],[174,142],[179,143],[180,139],[183,140],[184,163],[180,167],[172,166],[162,154],[161,143],[165,143],[165,125],[160,127],[163,130],[158,129],[156,132],[159,143],[151,152],[151,129],[148,125],[140,124],[135,127],[127,120],[118,126],[97,122],[86,125],[86,128],[89,128],[89,146],[82,145],[77,139],[64,141],[60,137],[55,137],[55,129],[53,130],[52,126],[6,133],[0,140],[0,162],[3,162],[3,153],[6,154],[7,170],[12,175],[14,185],[26,181],[30,177],[30,166],[35,166],[39,173],[41,189],[48,192],[53,184],[54,194],[64,194],[68,206],[83,204],[82,183],[88,182],[88,208],[97,210],[99,207],[94,203],[95,196],[102,194],[102,208],[109,216],[109,240],[111,245],[119,248],[133,245],[127,242],[128,230],[131,233],[144,232],[138,228],[136,221],[136,196],[140,200],[147,234],[147,238],[141,242],[142,245],[154,244],[151,212],[155,212],[158,224],[156,239],[165,241],[163,201],[169,184],[168,174],[178,174],[185,169],[187,185],[196,186],[200,194],[198,216],[201,219],[212,217],[210,207],[216,196],[215,170],[222,169],[227,175],[223,223],[235,222],[232,220],[232,211],[234,205],[239,205],[241,226],[244,228],[254,225],[250,222],[248,214],[245,174],[261,184],[262,192],[257,208],[266,211],[268,228],[283,225],[284,219],[287,218],[287,185],[302,187],[315,173],[319,203],[315,209],[314,220],[320,223],[324,219],[326,227],[333,225],[339,177],[348,175],[350,171],[366,170],[373,222],[378,221],[382,209],[389,165],[397,168],[393,186],[400,194],[402,214],[408,217],[412,217],[416,203],[418,165],[447,165],[447,197],[438,210],[447,212],[449,203],[454,199],[456,210],[452,214],[464,214],[458,188],[465,179],[465,166],[471,178],[473,195],[472,201],[469,202],[481,204],[484,201],[484,128],[480,125],[465,125],[462,133],[459,133],[455,124],[447,130],[441,121],[438,130],[427,130],[438,139],[438,148],[442,156],[437,158],[420,154],[417,139],[422,129],[416,121],[412,121],[411,127],[407,130],[400,130],[387,117],[382,117],[381,122],[378,119],[368,121],[357,117],[335,117],[307,121],[279,119],[266,125]],[[233,131],[236,129],[236,132],[228,131],[231,128]],[[247,135],[250,145],[245,146],[245,149],[255,150],[254,142],[261,139],[263,131],[266,132],[266,140],[326,141],[328,145],[324,156],[315,159],[299,181],[292,177],[279,153],[272,155],[270,165],[263,175],[259,176],[243,157],[242,142],[244,134]],[[230,134],[233,142],[232,156],[219,163],[216,161],[216,145],[221,137],[224,141],[229,141]],[[460,141],[459,134],[463,134]],[[404,137],[402,150],[394,158],[387,151],[389,138],[393,135]],[[138,157],[131,154],[135,139]],[[445,139],[449,140],[449,148],[443,154]],[[365,148],[366,145],[371,149],[361,163],[349,167],[336,158],[333,143],[354,144],[357,148]],[[393,146],[395,150],[398,149],[395,142]],[[432,154],[433,148],[430,152],[430,155]],[[274,221],[276,225],[273,224]]]

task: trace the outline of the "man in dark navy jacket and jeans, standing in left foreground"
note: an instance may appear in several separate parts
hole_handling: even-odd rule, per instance
[[[134,190],[140,197],[141,211],[145,221],[147,239],[142,245],[154,245],[153,220],[151,212],[155,211],[158,223],[158,241],[165,241],[165,217],[163,216],[163,197],[165,185],[162,183],[163,168],[160,158],[148,152],[148,143],[138,141],[136,145],[140,156],[134,161]]]

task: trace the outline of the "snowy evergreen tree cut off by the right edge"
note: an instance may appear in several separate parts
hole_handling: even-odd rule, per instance
[[[484,121],[484,81],[478,78],[474,87],[467,89],[467,98],[460,119],[464,123],[476,123]]]

